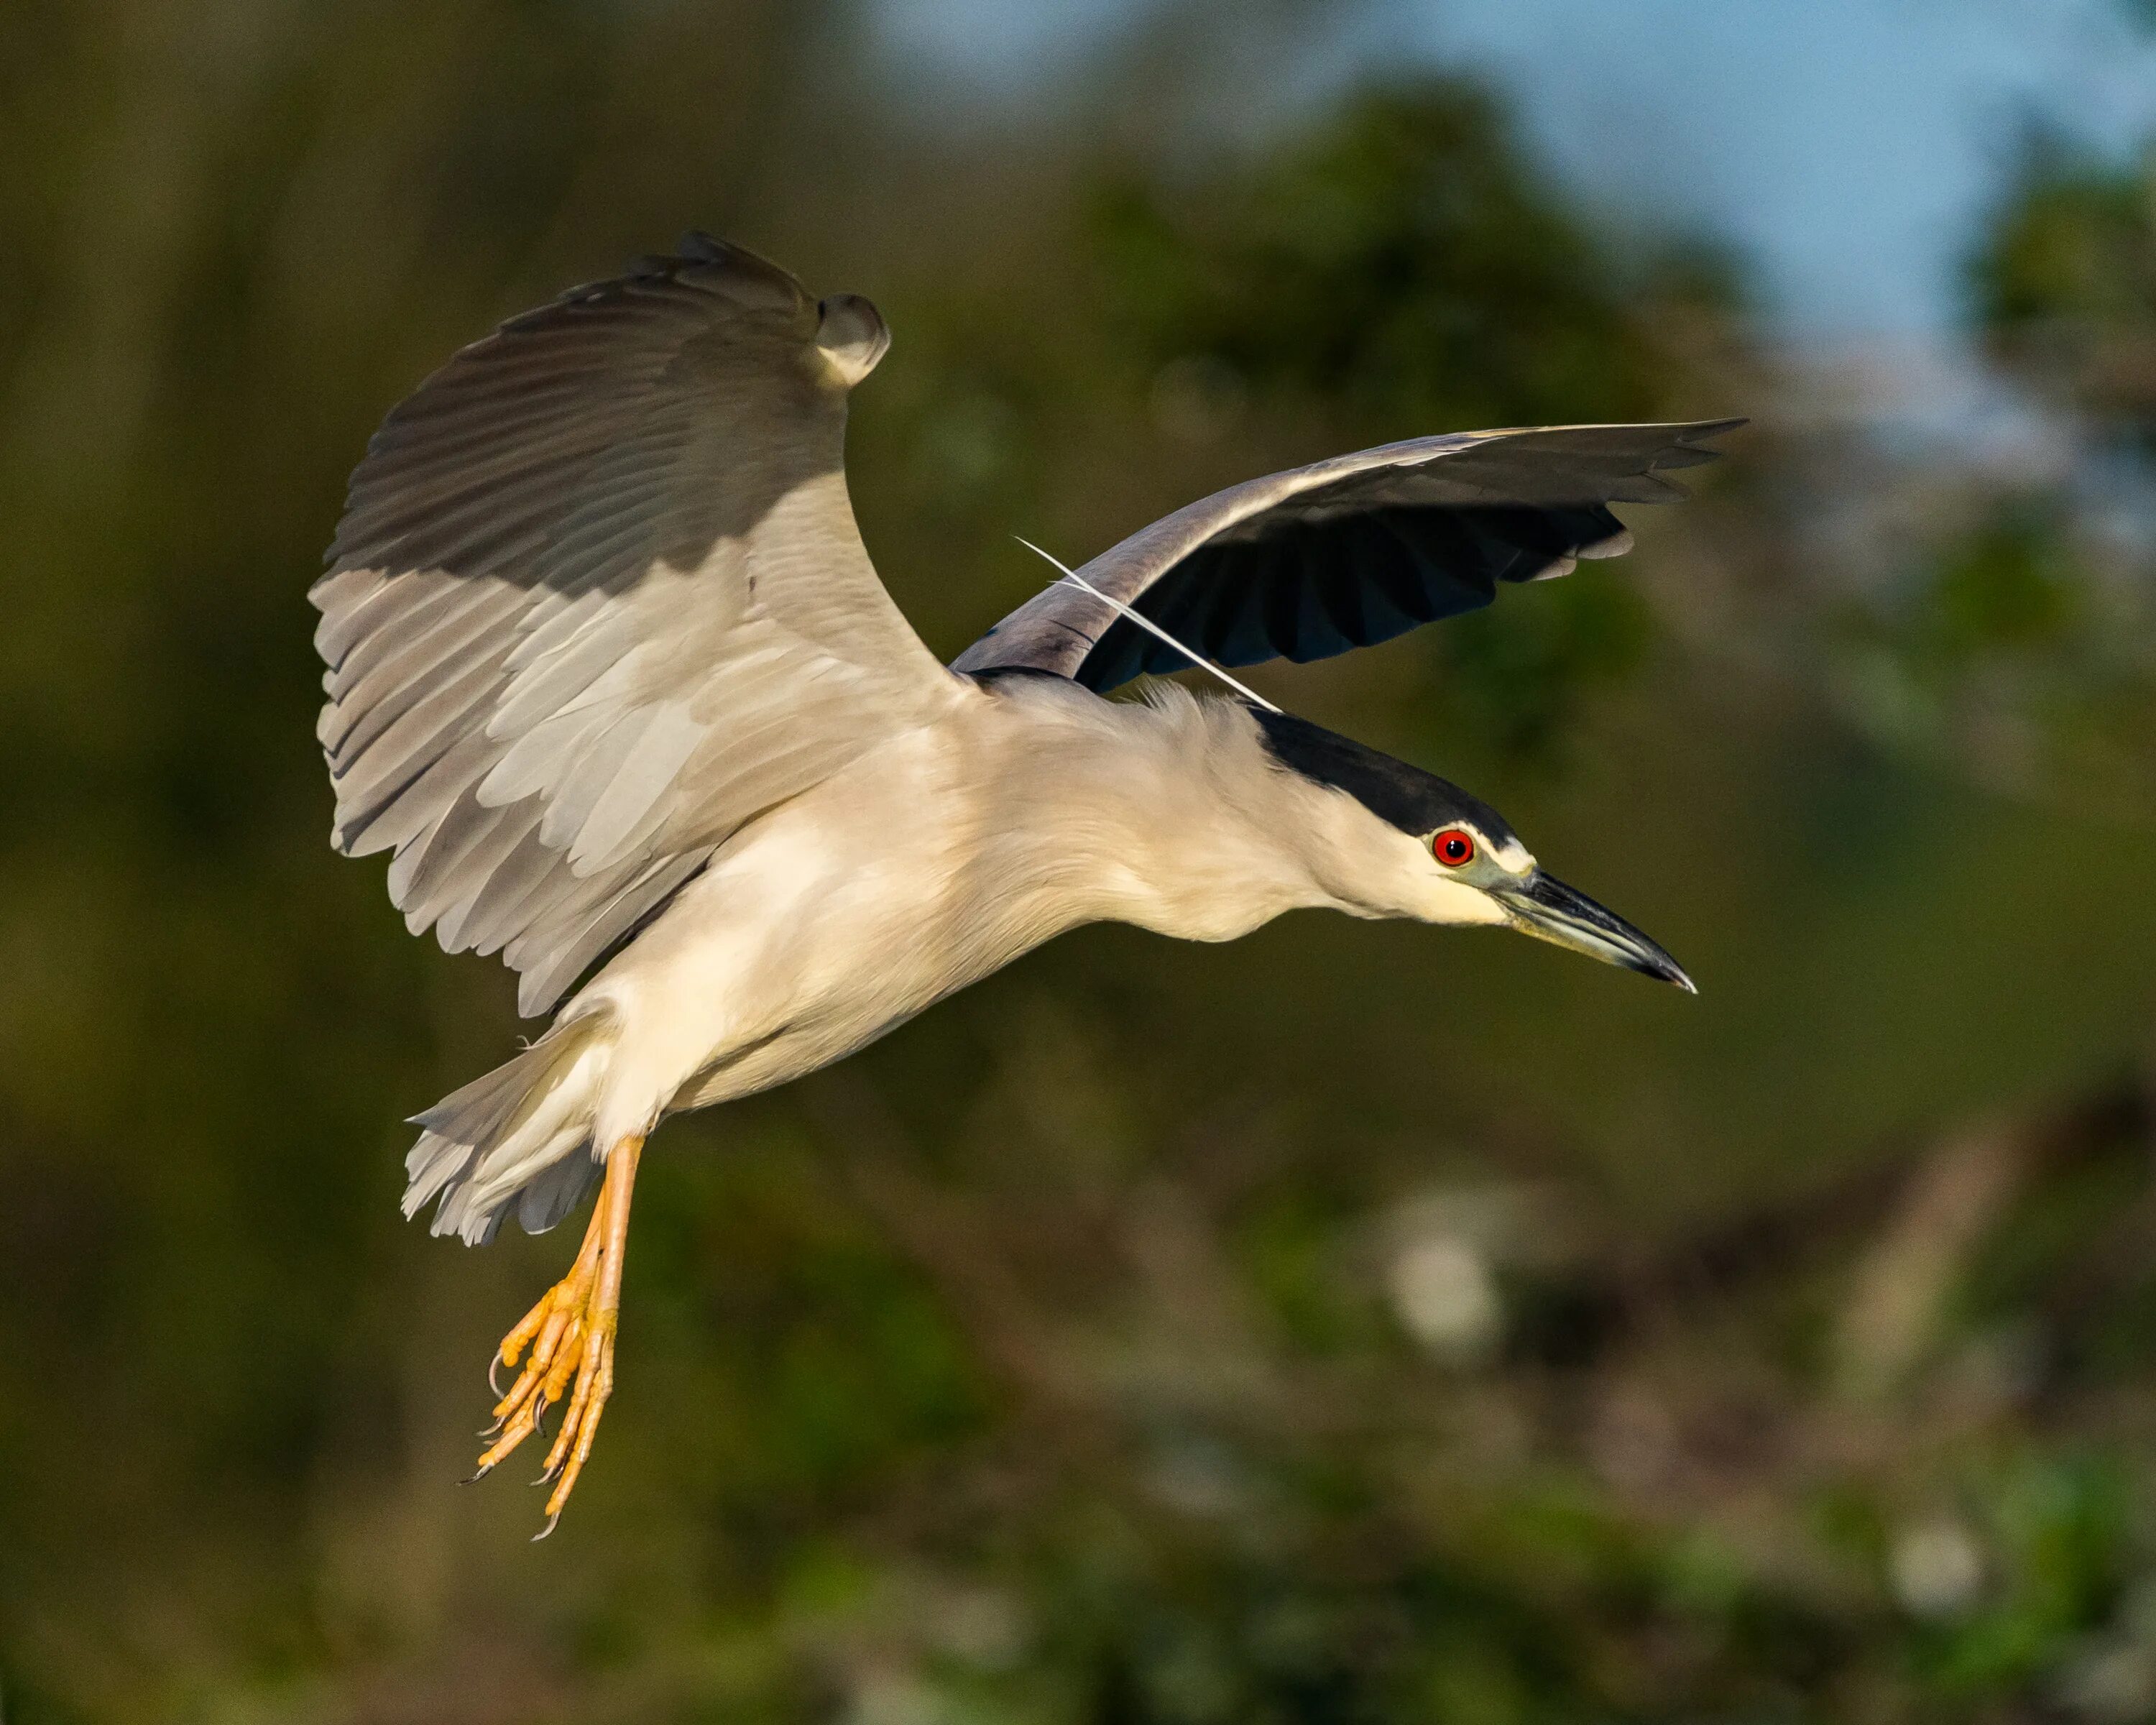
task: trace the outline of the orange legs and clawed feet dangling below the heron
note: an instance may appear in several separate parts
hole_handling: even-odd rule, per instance
[[[584,1244],[576,1253],[569,1274],[502,1337],[500,1365],[515,1365],[524,1350],[530,1358],[524,1371],[509,1386],[509,1393],[494,1404],[494,1425],[483,1436],[494,1445],[479,1458],[481,1479],[509,1455],[524,1438],[539,1430],[545,1410],[569,1395],[569,1414],[561,1423],[554,1447],[548,1451],[541,1481],[554,1479],[554,1494],[545,1501],[548,1522],[537,1540],[554,1531],[569,1492],[591,1455],[591,1440],[599,1430],[599,1414],[606,1397],[614,1393],[614,1328],[621,1324],[621,1255],[630,1244],[630,1192],[636,1186],[636,1158],[642,1156],[645,1141],[623,1138],[606,1158],[606,1182],[599,1186],[599,1201],[591,1210],[591,1225],[584,1229]],[[571,1389],[573,1384],[573,1389]],[[567,1466],[565,1466],[567,1464]],[[558,1479],[556,1479],[558,1475]]]

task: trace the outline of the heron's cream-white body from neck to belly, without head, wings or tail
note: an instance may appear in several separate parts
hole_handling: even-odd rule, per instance
[[[584,990],[623,1024],[604,1113],[800,1078],[1080,923],[1227,940],[1326,901],[1222,770],[1253,746],[1181,692],[1046,679],[893,737],[744,828]]]

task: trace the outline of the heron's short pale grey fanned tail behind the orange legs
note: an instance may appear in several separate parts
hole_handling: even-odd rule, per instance
[[[405,1216],[440,1195],[431,1231],[468,1246],[494,1238],[511,1199],[526,1233],[554,1227],[599,1175],[591,1123],[612,1057],[612,1016],[584,1013],[414,1115]]]

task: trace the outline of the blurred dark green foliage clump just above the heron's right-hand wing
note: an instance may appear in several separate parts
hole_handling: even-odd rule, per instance
[[[1156,362],[1214,362],[1317,416],[1492,425],[1667,399],[1673,323],[1736,304],[1697,248],[1583,224],[1464,84],[1352,97],[1309,136],[1100,194],[1117,313]]]

